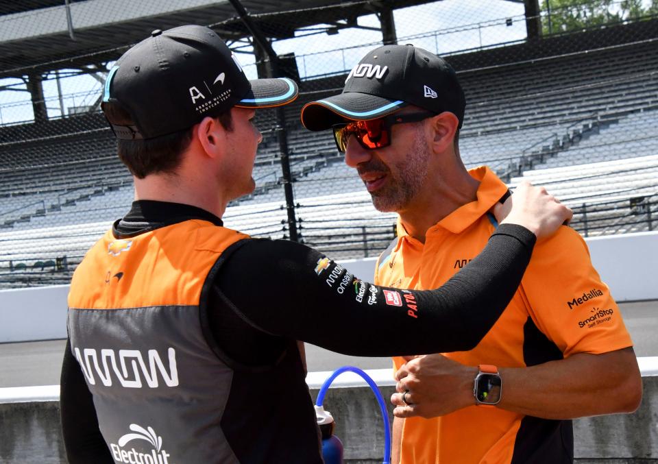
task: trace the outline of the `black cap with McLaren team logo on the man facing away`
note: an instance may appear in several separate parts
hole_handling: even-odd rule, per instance
[[[186,25],[155,30],[126,51],[110,69],[101,106],[130,114],[130,125],[108,122],[118,138],[131,140],[185,130],[233,106],[282,106],[297,93],[287,78],[248,80],[212,29]]]

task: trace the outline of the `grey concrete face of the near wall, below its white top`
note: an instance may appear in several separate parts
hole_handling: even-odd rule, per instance
[[[574,422],[576,463],[644,464],[658,461],[658,377],[644,377],[644,400],[637,412]],[[380,387],[385,400],[393,386]],[[315,400],[317,389],[311,390]],[[332,388],[324,406],[337,420],[336,435],[350,464],[381,463],[384,429],[369,387]],[[392,418],[392,406],[388,404]],[[65,463],[58,403],[0,404],[0,462]]]

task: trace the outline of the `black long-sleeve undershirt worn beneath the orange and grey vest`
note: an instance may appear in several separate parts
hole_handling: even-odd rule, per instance
[[[219,218],[191,206],[136,202],[114,230],[136,236],[193,218],[221,225]],[[411,291],[405,297],[400,289],[356,280],[304,245],[249,240],[230,254],[215,278],[208,302],[212,337],[243,365],[273,363],[289,339],[360,356],[468,350],[507,306],[534,243],[534,234],[525,228],[500,225],[483,252],[440,289]],[[402,306],[387,304],[385,289],[397,292],[400,300],[395,302]],[[370,295],[376,300],[372,304]],[[69,462],[113,462],[69,343],[61,389]]]

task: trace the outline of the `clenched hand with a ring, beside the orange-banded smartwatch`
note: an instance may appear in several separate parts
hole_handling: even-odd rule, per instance
[[[456,363],[441,354],[406,359],[395,374],[398,393],[391,396],[395,417],[437,417],[474,404],[476,367]]]

